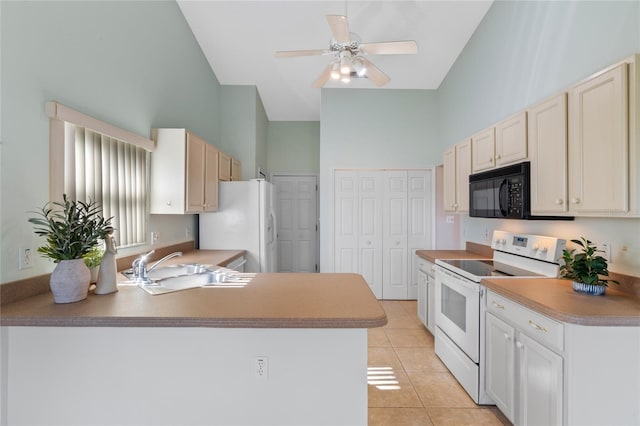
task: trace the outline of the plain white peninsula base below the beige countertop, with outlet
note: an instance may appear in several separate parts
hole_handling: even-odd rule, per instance
[[[2,343],[3,425],[367,424],[366,328],[3,327]]]

